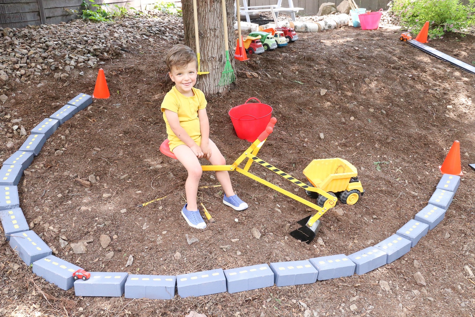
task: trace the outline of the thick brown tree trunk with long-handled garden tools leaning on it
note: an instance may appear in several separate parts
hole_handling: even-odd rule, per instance
[[[193,19],[193,0],[181,0],[183,10],[183,27],[185,30],[185,45],[196,52],[195,27]],[[201,71],[209,72],[199,75],[196,87],[206,96],[225,95],[229,86],[218,87],[221,72],[226,63],[224,47],[224,27],[221,0],[197,0],[198,31]],[[234,38],[235,8],[234,0],[226,0],[228,21],[229,60],[234,69]]]

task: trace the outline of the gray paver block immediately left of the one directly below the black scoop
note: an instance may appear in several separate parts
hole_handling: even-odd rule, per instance
[[[274,272],[268,264],[224,270],[228,293],[265,288],[274,285]]]

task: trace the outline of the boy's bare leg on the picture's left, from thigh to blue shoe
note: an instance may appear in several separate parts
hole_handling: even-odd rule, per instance
[[[178,161],[183,164],[188,172],[188,178],[185,183],[186,201],[188,203],[187,209],[190,211],[198,210],[196,196],[198,195],[199,179],[202,173],[198,157],[196,157],[190,147],[185,144],[175,147],[173,154],[175,154]]]

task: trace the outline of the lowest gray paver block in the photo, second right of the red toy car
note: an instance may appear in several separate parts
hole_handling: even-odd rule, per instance
[[[125,282],[125,298],[172,299],[176,276],[131,274]]]

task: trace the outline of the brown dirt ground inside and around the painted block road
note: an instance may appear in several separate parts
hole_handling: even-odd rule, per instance
[[[176,275],[351,254],[394,234],[427,204],[441,177],[438,165],[459,140],[465,175],[434,230],[401,259],[362,276],[168,301],[76,297],[74,289],[63,291],[32,274],[3,240],[4,316],[184,316],[194,310],[208,317],[473,317],[475,282],[464,265],[475,271],[475,172],[467,165],[475,163],[475,76],[400,42],[395,29],[346,27],[299,37],[237,63],[237,86],[228,96],[209,98],[207,109],[211,138],[228,163],[249,146],[237,138],[228,110],[254,96],[271,105],[278,120],[259,152],[262,159],[302,181],[312,159],[341,157],[357,167],[366,194],[354,206],[339,203],[343,217],[334,211],[323,216],[320,244],[289,235],[310,209],[238,173],[231,178],[249,208],[230,210],[219,187],[203,188],[199,202],[217,222],[203,231],[186,225],[180,215],[186,172],[159,152],[166,138],[160,105],[169,86],[164,58],[172,46],[165,41],[106,60],[111,97],[60,126],[28,168],[19,192],[28,222],[37,219],[33,230],[58,257],[88,271]],[[472,36],[429,45],[469,64],[475,60]],[[84,76],[74,76],[81,70]],[[78,93],[92,95],[96,74],[74,69],[64,88],[53,76],[40,88],[16,86],[4,106],[29,131]],[[323,96],[321,89],[327,90]],[[19,136],[14,139],[14,147],[2,147],[1,159],[21,145]],[[262,167],[253,165],[251,172],[294,192],[290,182]],[[85,188],[74,174],[85,180],[94,174],[97,182]],[[204,172],[201,184],[216,185],[214,174]],[[261,232],[259,240],[252,228]],[[105,249],[102,234],[112,238]],[[199,242],[189,245],[185,234]],[[70,244],[81,240],[90,241],[87,252],[75,254]],[[130,255],[133,264],[125,267]],[[416,284],[416,272],[427,287]]]

